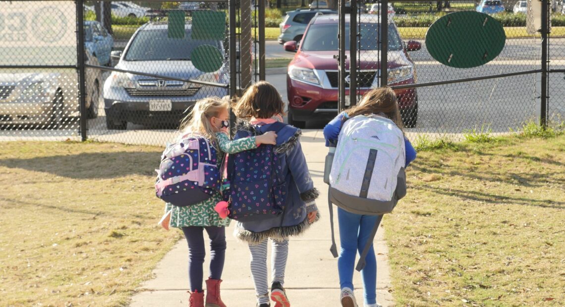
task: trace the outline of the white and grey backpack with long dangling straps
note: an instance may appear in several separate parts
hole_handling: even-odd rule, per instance
[[[406,148],[402,130],[382,116],[358,115],[342,126],[329,173],[332,248],[332,203],[347,212],[380,216],[356,267],[361,270],[384,213],[406,195]]]

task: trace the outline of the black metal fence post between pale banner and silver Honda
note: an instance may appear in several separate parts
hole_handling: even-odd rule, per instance
[[[80,112],[80,138],[86,141],[86,86],[84,67],[84,0],[76,0],[77,16],[77,73],[79,74],[79,112]],[[98,102],[95,102],[98,103]]]

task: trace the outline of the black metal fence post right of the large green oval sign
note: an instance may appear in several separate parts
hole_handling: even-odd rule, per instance
[[[540,125],[547,128],[547,47],[549,46],[549,0],[542,0],[541,9],[541,111]]]

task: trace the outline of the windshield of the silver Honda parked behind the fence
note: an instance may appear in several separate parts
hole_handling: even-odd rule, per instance
[[[190,60],[190,53],[200,45],[211,45],[222,53],[220,41],[193,40],[192,31],[185,29],[184,38],[170,38],[167,29],[141,30],[133,38],[125,54],[127,61]]]

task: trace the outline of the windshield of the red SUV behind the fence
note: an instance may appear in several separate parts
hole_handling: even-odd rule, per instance
[[[360,24],[359,50],[380,50],[379,46],[380,24]],[[349,50],[349,24],[345,25],[345,47]],[[402,50],[402,41],[396,27],[389,24],[388,50]],[[302,40],[302,51],[333,51],[338,48],[337,24],[312,24]]]

